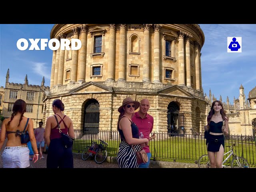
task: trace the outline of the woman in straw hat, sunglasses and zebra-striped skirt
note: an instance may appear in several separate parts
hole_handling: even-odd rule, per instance
[[[140,144],[148,145],[148,139],[139,139],[139,130],[132,122],[132,114],[138,109],[140,102],[134,101],[127,97],[123,100],[122,105],[118,108],[120,112],[117,129],[121,137],[119,151],[117,154],[117,163],[119,168],[138,168],[136,151],[141,150]],[[134,149],[132,148],[132,146]]]

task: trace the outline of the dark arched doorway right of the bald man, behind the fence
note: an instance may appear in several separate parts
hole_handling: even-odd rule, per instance
[[[180,107],[176,102],[172,101],[168,105],[167,109],[167,132],[169,136],[173,136],[173,134],[178,134],[178,116],[180,112]]]

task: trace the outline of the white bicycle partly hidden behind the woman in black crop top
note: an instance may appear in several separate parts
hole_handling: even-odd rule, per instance
[[[230,151],[226,152],[224,155],[229,154],[228,157],[222,162],[222,168],[226,167],[224,163],[233,155],[233,159],[231,160],[231,168],[249,168],[249,164],[247,160],[243,157],[237,156],[237,154],[233,151],[233,148],[236,144],[232,146],[226,146],[230,148]],[[198,167],[199,168],[210,168],[210,160],[208,154],[204,154],[200,156],[198,159]]]

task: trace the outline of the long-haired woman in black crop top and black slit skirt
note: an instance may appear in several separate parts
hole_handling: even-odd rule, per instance
[[[218,100],[212,102],[207,123],[204,129],[209,132],[206,145],[211,168],[222,168],[224,135],[228,135],[228,117],[224,112],[222,102]]]

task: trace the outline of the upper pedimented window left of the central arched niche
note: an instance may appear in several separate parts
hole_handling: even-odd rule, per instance
[[[90,30],[90,34],[92,37],[92,51],[90,53],[90,57],[100,55],[104,56],[104,39],[105,39],[106,29],[101,28],[99,26],[94,27]]]

